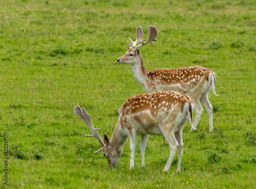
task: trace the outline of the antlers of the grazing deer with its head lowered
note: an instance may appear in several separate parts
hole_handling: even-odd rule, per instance
[[[91,122],[91,116],[89,114],[87,114],[86,110],[84,110],[84,107],[82,107],[82,110],[81,110],[81,107],[79,105],[75,106],[75,113],[83,121],[83,123],[85,123],[90,128],[90,130],[93,132],[92,134],[87,134],[86,137],[94,137],[94,138],[98,139],[98,141],[99,141],[101,148],[94,153],[98,153],[101,150],[103,150],[105,147],[105,144],[98,134],[99,128],[93,127],[92,122]]]

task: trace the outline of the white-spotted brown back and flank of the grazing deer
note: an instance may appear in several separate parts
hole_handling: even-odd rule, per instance
[[[118,112],[125,123],[133,116],[145,114],[148,119],[166,120],[174,109],[182,111],[185,103],[193,102],[187,95],[176,91],[144,93],[128,98]]]

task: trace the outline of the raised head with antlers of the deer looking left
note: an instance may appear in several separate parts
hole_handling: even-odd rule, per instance
[[[124,56],[117,59],[117,62],[120,64],[134,64],[136,62],[141,61],[141,53],[138,48],[150,43],[151,41],[157,41],[157,39],[155,39],[155,37],[157,36],[156,27],[153,25],[150,25],[149,31],[150,32],[148,34],[147,41],[144,42],[144,39],[142,39],[144,35],[142,27],[138,26],[137,33],[136,33],[136,41],[132,41],[132,39],[129,38],[131,42],[127,41],[129,46],[126,46],[128,51],[125,53]],[[137,45],[137,43],[141,43],[141,44]]]

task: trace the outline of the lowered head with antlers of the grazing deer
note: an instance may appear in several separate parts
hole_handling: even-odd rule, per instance
[[[104,134],[104,142],[98,134],[99,128],[94,128],[91,122],[91,116],[87,114],[84,107],[82,110],[79,105],[75,106],[76,115],[90,128],[92,134],[87,134],[86,137],[94,137],[99,141],[101,148],[94,153],[98,153],[100,151],[104,151],[104,156],[108,159],[108,165],[110,168],[114,168],[117,166],[118,161],[122,155],[122,147],[117,146],[116,144],[112,144],[109,140],[108,136]]]

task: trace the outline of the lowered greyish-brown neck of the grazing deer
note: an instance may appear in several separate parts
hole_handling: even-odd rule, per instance
[[[110,143],[113,146],[116,146],[117,148],[122,148],[125,142],[127,141],[128,137],[129,133],[127,129],[123,128],[120,124],[120,121],[118,120]]]

